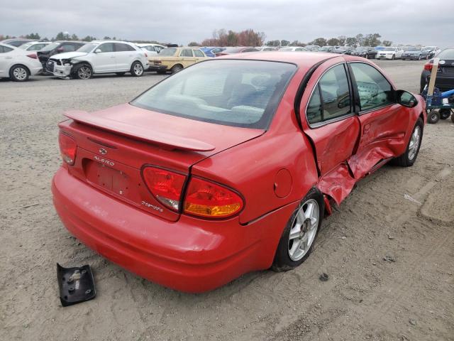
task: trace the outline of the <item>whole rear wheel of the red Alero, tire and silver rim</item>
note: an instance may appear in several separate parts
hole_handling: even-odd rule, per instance
[[[312,188],[294,210],[282,232],[271,266],[273,271],[294,269],[309,257],[321,227],[324,210],[323,195]]]

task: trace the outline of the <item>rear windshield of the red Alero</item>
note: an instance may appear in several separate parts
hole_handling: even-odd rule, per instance
[[[168,77],[131,104],[197,121],[267,129],[296,70],[289,63],[209,60]]]

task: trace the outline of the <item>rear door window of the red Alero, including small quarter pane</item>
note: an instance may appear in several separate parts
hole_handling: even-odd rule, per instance
[[[350,89],[344,65],[331,67],[321,76],[306,109],[309,124],[336,119],[350,113]]]

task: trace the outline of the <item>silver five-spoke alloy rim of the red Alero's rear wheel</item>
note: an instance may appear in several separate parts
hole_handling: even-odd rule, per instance
[[[319,227],[320,209],[314,199],[301,205],[289,232],[288,252],[292,261],[299,261],[311,249]]]

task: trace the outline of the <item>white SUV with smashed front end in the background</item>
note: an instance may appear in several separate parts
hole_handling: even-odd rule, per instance
[[[45,69],[57,77],[88,80],[96,73],[112,73],[140,77],[148,68],[144,50],[126,41],[92,41],[68,53],[52,55]]]

